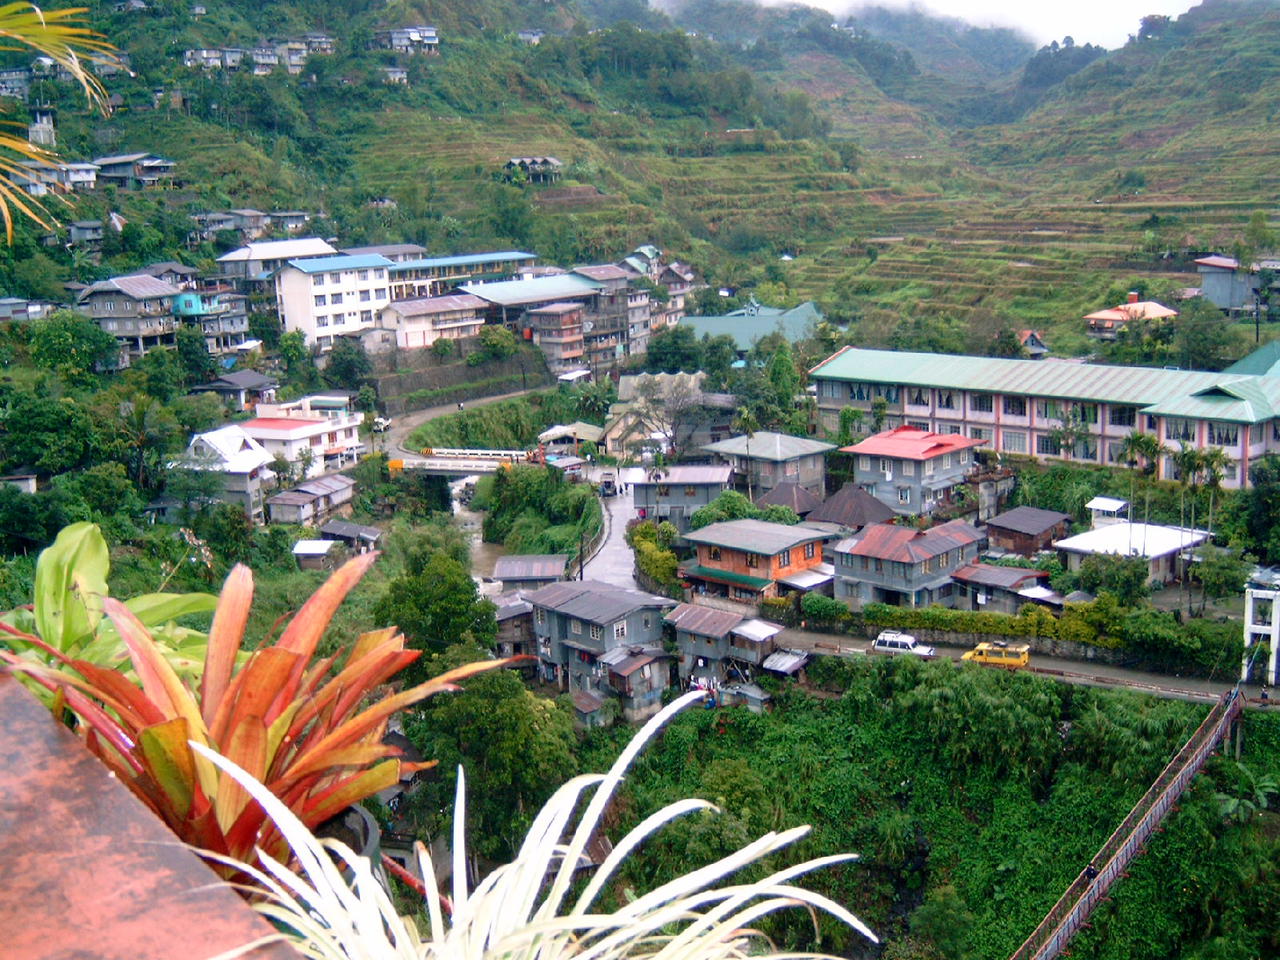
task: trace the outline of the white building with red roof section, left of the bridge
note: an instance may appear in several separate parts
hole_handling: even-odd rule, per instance
[[[259,403],[257,416],[239,426],[266,452],[298,466],[303,479],[340,470],[364,449],[365,417],[340,393],[303,397],[292,403]]]

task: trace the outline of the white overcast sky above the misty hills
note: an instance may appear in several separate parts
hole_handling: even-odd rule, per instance
[[[849,0],[805,1],[833,12],[863,5],[850,4]],[[873,3],[882,6],[908,6],[897,0]],[[1178,17],[1194,6],[1196,0],[927,0],[916,5],[983,27],[1016,27],[1042,45],[1070,35],[1076,44],[1101,44],[1115,49],[1123,46],[1130,33],[1138,32],[1138,20],[1148,13]]]

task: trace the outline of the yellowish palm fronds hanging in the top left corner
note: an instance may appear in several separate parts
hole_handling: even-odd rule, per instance
[[[83,13],[83,8],[41,10],[28,3],[5,4],[0,6],[0,46],[5,50],[29,49],[47,56],[81,84],[91,106],[105,113],[106,90],[88,72],[88,65],[118,64],[119,60],[115,47],[100,33],[81,26]],[[49,227],[51,219],[49,211],[18,186],[32,173],[24,160],[47,166],[52,164],[54,155],[20,136],[0,133],[0,218],[4,218],[5,236],[10,241],[14,211],[41,227]]]

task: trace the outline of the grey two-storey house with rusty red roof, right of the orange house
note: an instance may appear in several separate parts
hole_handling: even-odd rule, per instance
[[[835,547],[836,599],[854,611],[955,604],[951,575],[977,559],[986,535],[960,520],[928,530],[873,524]]]

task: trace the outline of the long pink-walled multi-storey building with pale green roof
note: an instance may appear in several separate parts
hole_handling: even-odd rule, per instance
[[[1248,484],[1249,465],[1280,452],[1280,376],[899,353],[846,347],[810,371],[822,428],[840,411],[877,411],[902,424],[964,434],[1001,453],[1123,466],[1125,438],[1217,448],[1222,485]],[[1074,443],[1064,447],[1064,436]],[[1162,479],[1176,465],[1162,457]]]

